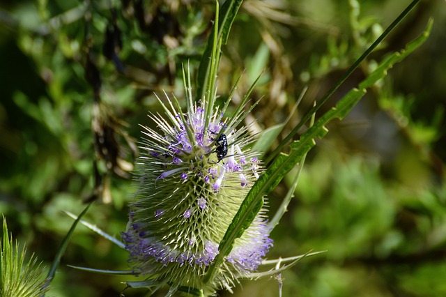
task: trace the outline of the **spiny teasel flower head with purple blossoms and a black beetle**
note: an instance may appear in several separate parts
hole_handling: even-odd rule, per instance
[[[252,142],[247,127],[238,127],[247,114],[243,108],[225,119],[212,102],[194,102],[191,93],[185,113],[176,98],[166,98],[166,105],[158,98],[166,119],[151,114],[157,128],[144,127],[137,190],[122,238],[134,273],[158,287],[169,284],[171,294],[184,287],[213,294],[256,271],[272,246],[263,208],[236,239],[215,280],[203,284],[261,162],[246,148]]]

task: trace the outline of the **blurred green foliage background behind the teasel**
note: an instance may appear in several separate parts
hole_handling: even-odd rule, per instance
[[[245,0],[219,94],[245,71],[236,106],[265,70],[247,118],[255,133],[284,122],[308,85],[274,147],[409,3]],[[63,211],[96,199],[86,220],[117,238],[125,229],[139,124],[161,112],[154,92],[183,98],[181,65],[197,69],[214,11],[214,1],[194,0],[1,1],[0,211],[46,266],[72,224]],[[421,1],[317,116],[430,17],[429,40],[309,153],[268,258],[327,252],[280,280],[243,282],[234,296],[278,296],[281,282],[283,296],[446,296],[445,1]],[[271,214],[293,174],[270,195]],[[79,225],[49,295],[119,296],[128,277],[66,265],[123,270],[126,258]]]

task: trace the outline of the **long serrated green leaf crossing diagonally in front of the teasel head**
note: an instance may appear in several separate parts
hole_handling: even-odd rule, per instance
[[[217,271],[216,268],[220,267],[224,261],[224,257],[231,252],[236,238],[242,236],[245,229],[252,223],[257,212],[261,209],[261,206],[263,206],[263,196],[268,195],[268,193],[282,181],[285,174],[302,160],[302,157],[316,144],[314,139],[321,139],[327,134],[328,130],[325,128],[325,125],[333,119],[344,119],[344,116],[346,116],[362,96],[364,96],[366,93],[365,88],[373,86],[378,79],[385,77],[387,70],[391,68],[394,63],[402,61],[408,54],[413,52],[413,50],[420,47],[429,36],[431,27],[432,21],[429,20],[426,30],[421,36],[409,43],[405,50],[395,52],[389,56],[389,58],[385,59],[385,61],[376,68],[374,73],[371,73],[371,75],[360,84],[360,90],[352,89],[348,92],[347,95],[337,103],[336,107],[333,107],[318,119],[318,121],[316,121],[316,123],[314,123],[314,125],[300,137],[299,141],[293,142],[290,145],[291,152],[289,155],[280,154],[277,156],[266,172],[263,172],[251,190],[249,190],[238,213],[226,230],[226,234],[224,234],[219,246],[220,254],[217,254],[213,265],[209,267],[209,270],[204,277],[204,283],[213,279]]]

